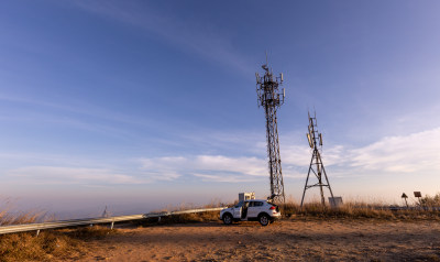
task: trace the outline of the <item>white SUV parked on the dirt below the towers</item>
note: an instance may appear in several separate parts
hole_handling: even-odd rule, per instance
[[[258,221],[262,226],[267,226],[280,216],[276,205],[257,199],[239,201],[235,206],[220,211],[220,219],[226,225],[234,221]]]

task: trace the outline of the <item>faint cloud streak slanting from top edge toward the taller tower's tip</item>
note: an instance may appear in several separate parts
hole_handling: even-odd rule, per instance
[[[213,63],[232,67],[249,77],[254,66],[238,53],[232,42],[217,32],[215,26],[182,20],[142,4],[130,1],[77,1],[75,4],[88,12],[132,24],[147,34],[156,35],[176,48],[184,48]]]

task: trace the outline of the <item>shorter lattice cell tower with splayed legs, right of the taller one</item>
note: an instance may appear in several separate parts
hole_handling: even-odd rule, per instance
[[[326,205],[326,200],[323,198],[323,187],[328,187],[330,190],[330,195],[333,198],[333,192],[331,190],[329,178],[327,177],[326,168],[323,167],[322,160],[321,160],[321,154],[319,152],[319,149],[322,150],[322,134],[318,133],[318,124],[317,124],[317,119],[316,119],[316,112],[315,117],[310,117],[309,112],[309,132],[307,133],[307,139],[309,141],[310,148],[314,150],[314,154],[311,155],[311,161],[310,161],[310,166],[309,166],[309,172],[307,173],[307,179],[306,179],[306,185],[304,186],[304,193],[302,193],[302,198],[301,198],[301,207],[304,203],[304,197],[306,196],[306,190],[319,186],[320,193],[321,193],[321,203],[322,206]],[[309,185],[309,176],[310,172],[315,174],[315,176],[318,178],[318,183]],[[326,178],[326,183],[322,183],[322,174],[323,177]]]

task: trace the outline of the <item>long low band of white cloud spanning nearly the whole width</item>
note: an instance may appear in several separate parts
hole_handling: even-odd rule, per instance
[[[409,135],[383,138],[358,149],[334,145],[323,152],[324,165],[330,179],[334,176],[355,176],[369,172],[382,175],[439,173],[440,140],[437,139],[439,137],[440,128],[437,128]],[[294,144],[285,146],[282,152],[285,179],[304,178],[310,156],[308,146]],[[173,182],[191,176],[204,182],[241,183],[267,177],[265,156],[177,155],[142,157],[134,163],[136,165],[127,172],[116,171],[125,170],[122,166],[82,168],[35,165],[13,168],[6,174],[10,178],[33,183],[81,185],[147,184],[157,181]],[[128,166],[128,163],[123,165]]]

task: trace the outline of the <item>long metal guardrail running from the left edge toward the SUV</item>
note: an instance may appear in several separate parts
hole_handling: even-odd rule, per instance
[[[153,218],[153,217],[160,218],[160,217],[182,215],[182,214],[191,214],[191,212],[219,211],[223,208],[224,207],[216,207],[216,208],[189,209],[189,210],[182,210],[182,211],[148,212],[148,214],[142,214],[142,215],[107,217],[107,218],[106,217],[105,218],[85,218],[85,219],[61,220],[61,221],[53,221],[53,222],[1,226],[0,234],[28,232],[28,231],[36,231],[36,234],[38,234],[40,230],[44,230],[44,229],[68,228],[68,227],[75,227],[75,226],[87,226],[87,225],[96,225],[96,223],[111,223],[111,228],[113,228],[114,222],[131,221],[131,220],[146,219],[146,218]]]

